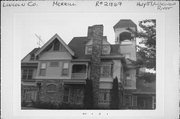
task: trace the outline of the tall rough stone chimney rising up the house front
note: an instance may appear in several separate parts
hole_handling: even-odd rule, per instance
[[[100,68],[101,68],[100,56],[101,56],[101,47],[103,40],[103,25],[94,25],[89,28],[91,29],[90,38],[93,39],[90,79],[93,82],[94,107],[96,108],[98,107],[98,97],[99,97],[99,79],[100,79]]]

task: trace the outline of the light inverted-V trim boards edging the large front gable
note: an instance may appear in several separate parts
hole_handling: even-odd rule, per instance
[[[58,35],[55,34],[48,42],[46,42],[38,52],[36,52],[36,56],[39,55],[48,45],[50,45],[55,39],[58,39],[59,42],[66,48],[66,50],[72,55],[74,56],[74,52],[73,50],[71,50],[71,48],[68,47],[68,45],[66,45],[66,43],[62,40],[62,38]]]

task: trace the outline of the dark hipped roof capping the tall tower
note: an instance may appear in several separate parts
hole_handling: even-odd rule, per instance
[[[127,27],[137,27],[137,25],[130,19],[122,19],[116,25],[114,25],[114,29],[116,28],[127,28]]]

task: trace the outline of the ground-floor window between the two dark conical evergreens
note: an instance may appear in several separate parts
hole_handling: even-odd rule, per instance
[[[110,90],[99,90],[99,103],[110,103]]]

